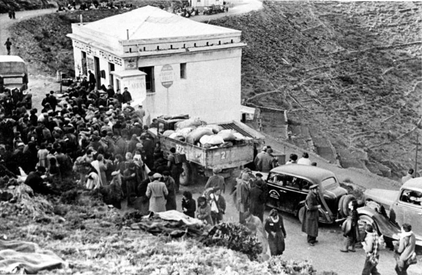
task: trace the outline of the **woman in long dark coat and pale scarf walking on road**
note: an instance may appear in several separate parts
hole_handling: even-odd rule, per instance
[[[279,215],[277,210],[270,211],[270,215],[265,220],[264,229],[268,233],[271,256],[283,255],[286,230],[284,229],[283,217]]]

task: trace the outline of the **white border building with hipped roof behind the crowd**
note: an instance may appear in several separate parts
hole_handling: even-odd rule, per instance
[[[72,24],[75,72],[97,86],[128,87],[151,118],[189,114],[209,123],[241,119],[241,31],[152,6]]]

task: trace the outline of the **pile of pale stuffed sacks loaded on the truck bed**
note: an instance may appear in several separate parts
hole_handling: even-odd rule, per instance
[[[224,129],[220,125],[207,124],[199,117],[179,121],[175,130],[164,131],[163,136],[176,139],[203,148],[230,147],[253,140],[233,129]]]

